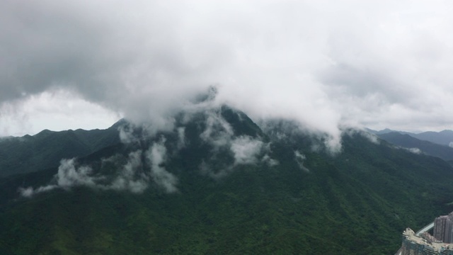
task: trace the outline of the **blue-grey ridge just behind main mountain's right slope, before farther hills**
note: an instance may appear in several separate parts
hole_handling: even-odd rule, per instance
[[[394,145],[398,145],[408,149],[415,149],[415,152],[417,151],[417,149],[420,149],[420,152],[423,152],[434,157],[440,157],[445,161],[453,160],[452,147],[438,145],[436,143],[424,140],[418,140],[412,135],[403,135],[399,132],[389,132],[386,134],[379,135],[379,137],[386,140],[387,142],[391,142]]]

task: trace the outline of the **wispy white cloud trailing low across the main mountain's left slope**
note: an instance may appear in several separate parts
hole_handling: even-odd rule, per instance
[[[143,193],[153,181],[166,193],[174,193],[178,191],[176,187],[178,179],[166,171],[164,166],[167,160],[164,142],[165,138],[162,137],[159,142],[154,142],[145,151],[137,149],[130,152],[125,160],[120,155],[101,159],[101,171],[97,173],[91,166],[79,165],[76,159],[62,159],[58,172],[50,184],[38,188],[19,188],[18,191],[24,197],[31,197],[56,188],[69,190],[76,186],[87,186],[104,191]],[[124,161],[125,163],[121,164]],[[109,173],[101,174],[105,169],[108,169]]]

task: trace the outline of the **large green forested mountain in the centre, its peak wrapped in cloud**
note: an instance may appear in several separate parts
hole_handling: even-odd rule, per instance
[[[359,130],[333,152],[228,107],[122,127],[130,142],[0,179],[0,254],[393,254],[452,210],[452,166]]]

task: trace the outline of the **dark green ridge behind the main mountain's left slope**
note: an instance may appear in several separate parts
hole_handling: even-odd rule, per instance
[[[0,138],[0,176],[57,167],[63,158],[86,156],[117,142],[115,125],[107,130],[43,130],[33,136]]]

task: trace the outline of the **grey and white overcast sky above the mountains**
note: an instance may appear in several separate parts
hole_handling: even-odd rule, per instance
[[[452,1],[26,1],[0,8],[0,135],[165,123],[187,99],[314,130],[453,129]]]

